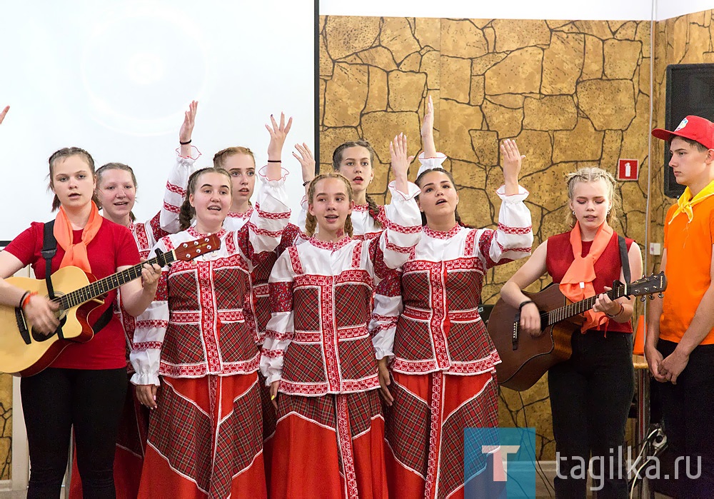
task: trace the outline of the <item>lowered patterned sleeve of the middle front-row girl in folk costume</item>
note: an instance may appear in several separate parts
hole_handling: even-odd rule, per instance
[[[271,319],[266,326],[266,338],[261,353],[261,373],[267,378],[266,385],[282,379],[283,357],[294,334],[293,282],[295,272],[290,253],[285,251],[276,261],[271,272],[270,287]]]

